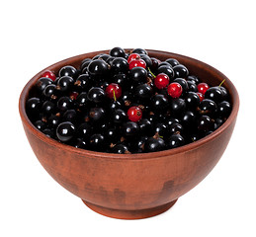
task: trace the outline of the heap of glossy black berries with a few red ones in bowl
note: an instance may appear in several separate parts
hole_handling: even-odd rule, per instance
[[[194,142],[231,112],[221,85],[208,85],[175,58],[114,47],[80,67],[44,71],[26,104],[45,135],[94,151],[142,153]]]

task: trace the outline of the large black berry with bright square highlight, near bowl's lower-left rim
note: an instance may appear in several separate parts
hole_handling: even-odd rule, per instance
[[[70,121],[64,121],[58,124],[56,128],[56,136],[62,142],[67,142],[73,138],[75,134],[75,126]]]

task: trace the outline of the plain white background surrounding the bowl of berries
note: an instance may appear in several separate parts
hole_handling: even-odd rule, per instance
[[[256,236],[253,2],[2,1],[0,236]],[[18,113],[23,87],[44,67],[114,46],[205,61],[240,95],[233,136],[213,172],[169,211],[142,220],[104,217],[55,183]]]

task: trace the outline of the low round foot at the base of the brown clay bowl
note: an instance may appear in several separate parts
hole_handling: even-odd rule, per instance
[[[106,207],[88,202],[86,200],[83,200],[83,202],[95,212],[98,212],[102,215],[106,215],[108,217],[113,217],[118,219],[142,219],[142,218],[158,215],[168,210],[169,208],[171,208],[176,201],[177,199],[171,202],[168,202],[166,204],[156,206],[153,208],[148,208],[148,209],[122,210],[122,209],[106,208]]]

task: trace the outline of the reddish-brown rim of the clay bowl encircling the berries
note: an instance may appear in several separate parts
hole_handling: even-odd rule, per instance
[[[125,50],[130,50],[131,48],[126,48]],[[210,140],[213,140],[214,138],[218,137],[221,133],[223,133],[223,131],[231,125],[231,123],[233,122],[234,119],[236,119],[237,114],[238,114],[238,110],[239,110],[239,96],[237,93],[236,88],[234,87],[234,85],[232,84],[232,82],[220,71],[218,71],[217,69],[215,69],[213,66],[200,61],[198,59],[189,57],[189,56],[185,56],[182,54],[178,54],[178,53],[174,53],[174,52],[168,52],[168,51],[162,51],[162,50],[155,50],[155,49],[145,49],[149,54],[150,52],[152,53],[161,53],[163,55],[166,56],[177,56],[177,57],[182,57],[184,59],[188,59],[190,61],[194,61],[196,63],[201,64],[202,66],[204,66],[204,69],[207,69],[209,71],[213,71],[217,76],[220,76],[221,78],[225,79],[225,83],[228,84],[230,90],[229,90],[229,94],[232,97],[232,111],[229,115],[229,117],[224,121],[224,123],[219,126],[216,130],[214,130],[211,134],[197,140],[194,141],[192,143],[177,147],[177,148],[173,148],[173,149],[168,149],[168,150],[163,150],[163,151],[157,151],[157,152],[148,152],[148,153],[132,153],[132,154],[115,154],[115,153],[107,153],[107,152],[98,152],[98,151],[91,151],[91,150],[86,150],[86,149],[82,149],[82,148],[76,148],[73,147],[71,145],[67,145],[67,144],[63,144],[53,138],[50,138],[48,136],[46,136],[45,134],[43,134],[42,131],[38,130],[33,123],[31,122],[31,120],[28,118],[27,114],[26,114],[26,98],[30,92],[30,89],[32,87],[32,85],[35,83],[35,81],[43,74],[43,71],[45,70],[50,70],[51,68],[54,68],[55,66],[61,64],[61,63],[65,63],[68,62],[72,59],[76,59],[78,57],[83,57],[86,56],[88,54],[91,53],[106,53],[109,52],[110,49],[108,50],[98,50],[98,51],[92,51],[92,52],[87,52],[87,53],[83,53],[83,54],[79,54],[76,56],[72,56],[72,57],[68,57],[66,59],[60,60],[56,63],[51,64],[50,66],[47,66],[46,68],[44,68],[42,71],[40,71],[39,73],[37,73],[23,88],[22,93],[20,95],[19,98],[19,113],[20,113],[20,117],[23,121],[24,126],[26,125],[26,127],[35,135],[37,136],[39,139],[41,139],[43,142],[51,145],[51,146],[55,146],[59,149],[62,150],[66,150],[68,152],[73,152],[76,153],[77,155],[80,156],[85,156],[85,157],[95,157],[95,158],[102,158],[102,159],[126,159],[126,160],[140,160],[140,159],[156,159],[156,158],[161,158],[161,157],[165,157],[165,156],[172,156],[172,155],[177,155],[180,153],[184,153],[184,152],[188,152],[194,149],[197,149],[198,147],[206,144],[207,142],[209,142]],[[231,92],[231,93],[230,93]]]

